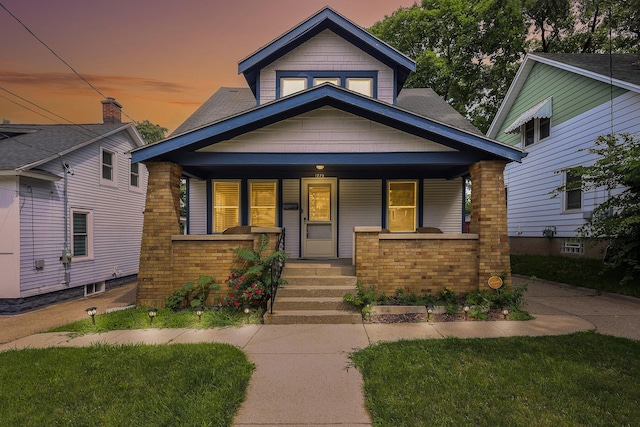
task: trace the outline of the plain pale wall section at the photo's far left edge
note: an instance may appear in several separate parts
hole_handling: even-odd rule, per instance
[[[0,298],[20,296],[18,178],[0,177]]]

